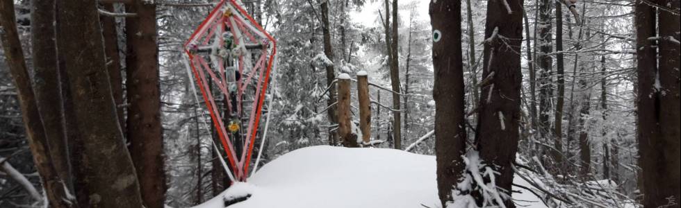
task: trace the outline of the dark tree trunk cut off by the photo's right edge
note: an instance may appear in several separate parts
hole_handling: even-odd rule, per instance
[[[668,202],[668,199],[673,196],[677,204],[675,206],[679,206],[678,200],[681,200],[681,98],[679,90],[681,81],[679,71],[681,66],[681,47],[679,44],[679,40],[681,40],[681,17],[678,15],[678,11],[681,9],[681,1],[658,2],[661,5],[673,8],[677,13],[675,15],[658,8],[659,15],[657,18],[659,22],[657,28],[658,36],[662,37],[662,41],[659,42],[658,49],[659,61],[657,64],[659,71],[657,74],[661,88],[658,91],[660,93],[657,108],[659,111],[656,112],[659,115],[657,118],[659,118],[658,123],[662,137],[659,137],[659,147],[661,148],[656,150],[662,153],[663,157],[658,157],[657,162],[662,162],[662,164],[658,164],[658,168],[653,172],[659,174],[656,177],[660,183],[656,184],[655,187],[645,187],[645,189],[650,191],[649,188],[652,188],[659,191],[657,196],[661,198],[656,199],[658,203],[662,201],[662,198]]]

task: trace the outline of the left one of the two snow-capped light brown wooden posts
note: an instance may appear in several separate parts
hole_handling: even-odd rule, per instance
[[[357,147],[357,136],[352,134],[350,123],[350,75],[338,76],[338,135],[345,147]]]

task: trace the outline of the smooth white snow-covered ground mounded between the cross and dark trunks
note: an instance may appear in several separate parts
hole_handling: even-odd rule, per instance
[[[514,183],[530,187],[519,177]],[[546,207],[529,191],[514,191],[518,207]],[[383,148],[295,150],[198,207],[224,207],[224,198],[246,194],[251,198],[229,207],[440,207],[435,157]]]

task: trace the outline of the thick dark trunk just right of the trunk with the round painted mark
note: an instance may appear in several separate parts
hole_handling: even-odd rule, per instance
[[[518,150],[520,121],[520,49],[523,40],[523,0],[489,1],[485,24],[484,67],[482,77],[490,78],[483,85],[484,100],[478,111],[479,121],[475,142],[481,159],[498,173],[497,190],[511,195],[513,169]],[[510,11],[509,11],[510,10]],[[480,204],[484,196],[475,195]],[[511,198],[504,198],[506,207],[515,207]]]

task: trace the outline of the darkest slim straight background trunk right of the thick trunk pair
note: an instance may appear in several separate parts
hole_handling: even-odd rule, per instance
[[[556,111],[554,114],[554,125],[555,129],[553,132],[553,159],[557,166],[555,167],[558,171],[564,171],[564,159],[563,159],[563,104],[565,103],[565,80],[564,80],[564,64],[563,64],[563,12],[561,8],[563,6],[560,3],[556,3],[556,51],[559,53],[556,55],[556,79],[557,79],[557,90],[558,94],[556,96]]]

